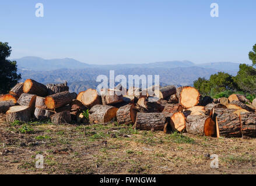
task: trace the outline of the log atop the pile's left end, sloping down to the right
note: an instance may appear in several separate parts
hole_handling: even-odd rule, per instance
[[[23,84],[23,92],[28,94],[36,94],[38,96],[47,96],[47,87],[44,84],[38,83],[37,81],[27,79]]]

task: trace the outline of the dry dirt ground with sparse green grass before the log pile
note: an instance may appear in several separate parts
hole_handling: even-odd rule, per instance
[[[79,126],[0,122],[0,174],[255,174],[256,140]],[[36,168],[36,155],[44,168]],[[219,169],[212,169],[216,154]]]

